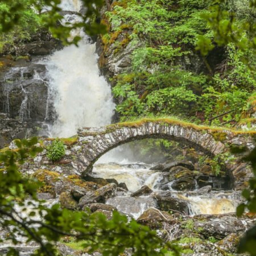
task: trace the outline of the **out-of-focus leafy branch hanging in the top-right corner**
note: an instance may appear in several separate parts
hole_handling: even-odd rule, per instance
[[[250,49],[255,53],[255,0],[212,0],[209,11],[201,14],[212,28],[214,42],[218,46],[233,43],[241,51]],[[214,45],[204,36],[198,38],[197,48],[206,55]],[[246,59],[250,61],[250,59]]]

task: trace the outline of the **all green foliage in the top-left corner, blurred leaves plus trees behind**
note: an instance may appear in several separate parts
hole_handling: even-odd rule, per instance
[[[93,19],[98,15],[98,8],[104,4],[103,0],[81,0],[86,7],[86,13],[80,16],[81,21],[75,24],[69,22],[65,24],[56,23],[63,18],[59,12],[60,0],[2,0],[0,4],[0,32],[5,33],[1,40],[11,40],[18,35],[19,39],[29,38],[31,32],[35,32],[40,24],[49,28],[52,35],[63,41],[65,44],[76,44],[81,39],[75,36],[72,40],[69,38],[71,30],[84,28],[89,35],[98,34],[105,31],[105,26],[95,21],[88,23],[88,19]],[[45,11],[47,10],[47,12]],[[26,31],[24,31],[26,30]],[[7,40],[7,42],[9,42]]]

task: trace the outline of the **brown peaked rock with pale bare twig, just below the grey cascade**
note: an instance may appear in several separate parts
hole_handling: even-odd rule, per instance
[[[149,226],[151,229],[161,228],[162,222],[173,221],[175,221],[175,219],[169,213],[154,208],[146,210],[146,212],[143,212],[137,219],[139,224]]]

